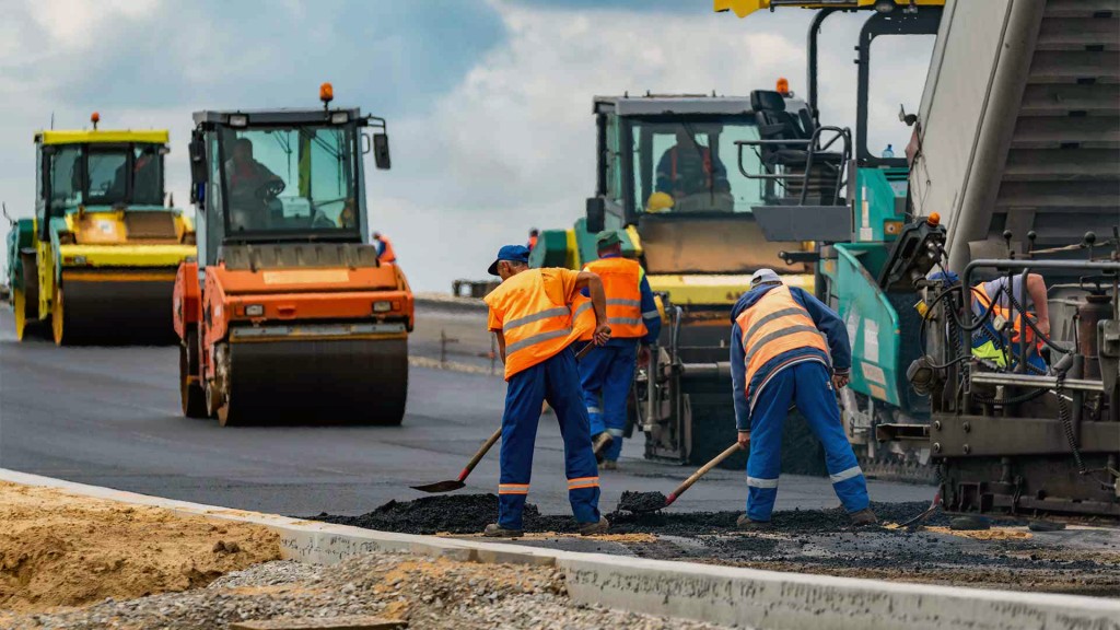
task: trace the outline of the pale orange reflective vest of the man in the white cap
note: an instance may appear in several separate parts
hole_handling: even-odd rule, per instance
[[[778,355],[800,348],[814,348],[828,354],[809,311],[793,298],[785,285],[768,290],[735,322],[743,332],[747,400],[752,400],[750,381],[755,374]]]

